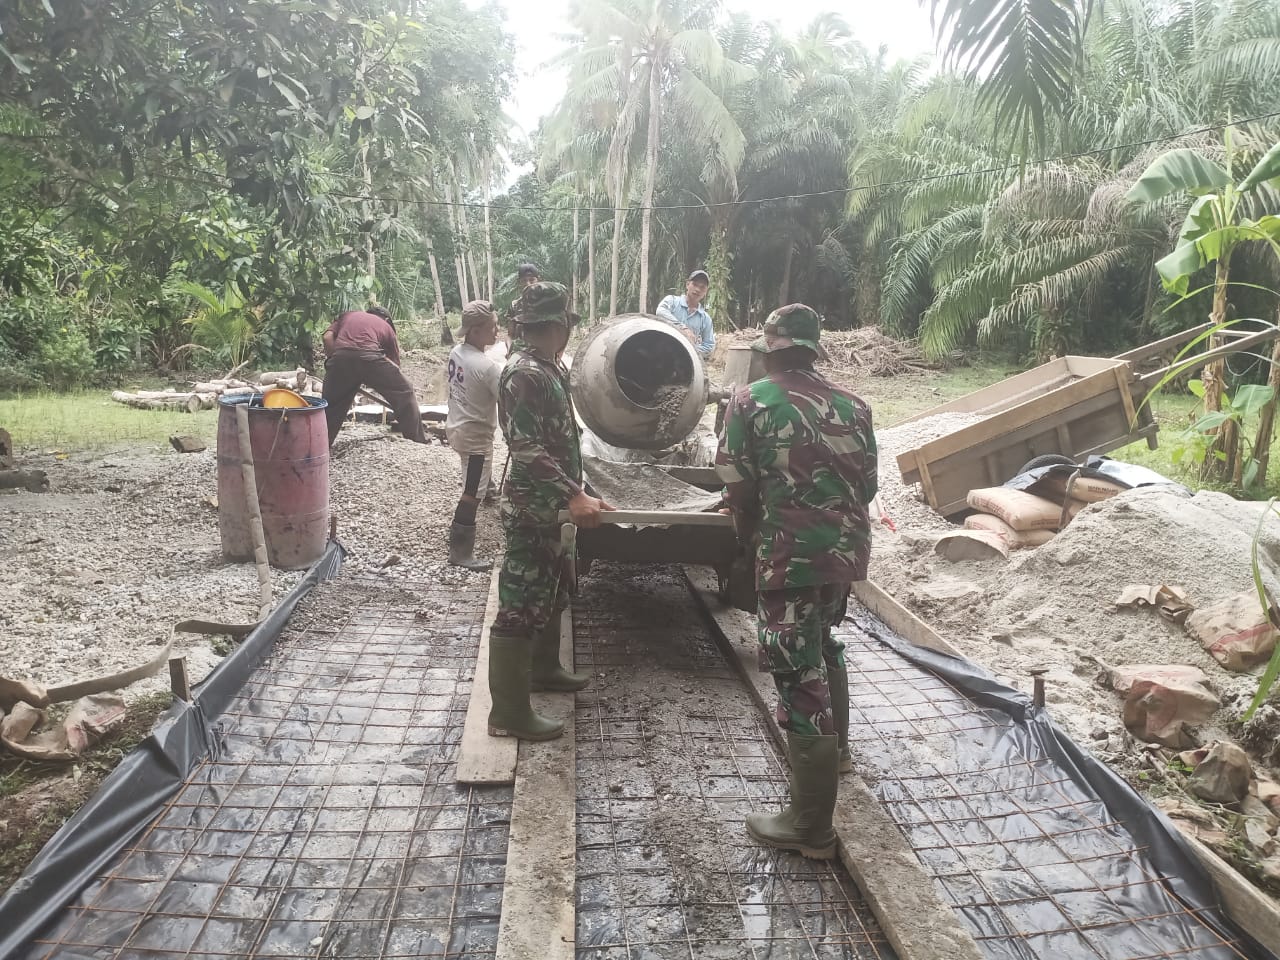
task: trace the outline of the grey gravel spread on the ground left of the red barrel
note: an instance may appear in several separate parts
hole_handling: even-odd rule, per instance
[[[146,416],[146,413],[140,413]],[[47,460],[47,462],[46,462]],[[0,663],[52,686],[152,659],[178,620],[257,617],[253,566],[224,564],[214,453],[37,458],[50,493],[0,495]],[[301,577],[274,571],[276,596]],[[214,639],[179,634],[193,680]],[[168,672],[131,695],[168,689]]]

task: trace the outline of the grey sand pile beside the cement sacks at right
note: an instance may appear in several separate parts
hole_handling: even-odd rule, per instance
[[[1197,605],[1249,589],[1263,508],[1211,492],[1130,490],[1007,562],[952,563],[933,553],[933,536],[879,534],[870,576],[1012,686],[1029,690],[1028,671],[1048,667],[1059,722],[1082,742],[1110,739],[1119,749],[1120,700],[1097,685],[1101,663],[1199,667],[1222,698],[1222,726],[1252,698],[1256,677],[1222,669],[1181,627],[1114,602],[1129,584],[1181,586]],[[1260,556],[1275,589],[1280,518],[1267,525]]]

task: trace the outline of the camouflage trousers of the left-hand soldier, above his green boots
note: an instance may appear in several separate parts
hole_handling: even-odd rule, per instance
[[[536,636],[568,604],[561,584],[559,525],[502,526],[507,553],[498,571],[498,617],[493,625]]]

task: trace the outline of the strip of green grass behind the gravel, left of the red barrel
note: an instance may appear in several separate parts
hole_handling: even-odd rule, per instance
[[[198,436],[211,445],[218,411],[134,410],[115,403],[109,390],[28,393],[0,398],[0,426],[13,436],[19,456],[125,444],[166,447],[174,434]]]

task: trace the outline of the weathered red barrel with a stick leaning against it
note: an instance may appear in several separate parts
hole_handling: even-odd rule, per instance
[[[223,557],[253,559],[236,404],[248,403],[250,447],[262,511],[266,556],[273,567],[300,570],[324,553],[329,535],[329,433],[325,401],[307,407],[261,406],[261,394],[224,397],[218,407],[218,529]]]

